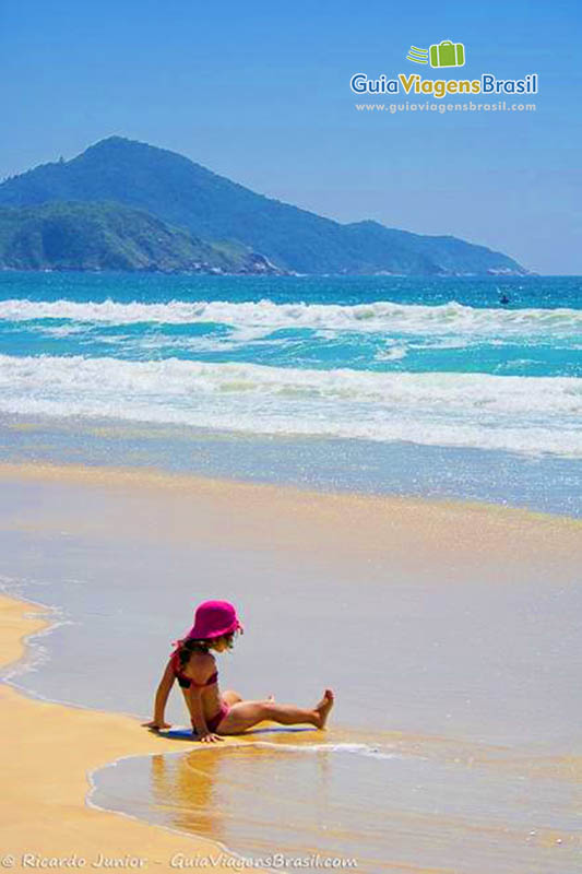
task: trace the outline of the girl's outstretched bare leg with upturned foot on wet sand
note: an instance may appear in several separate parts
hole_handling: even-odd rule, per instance
[[[216,729],[218,734],[240,734],[259,722],[269,720],[281,725],[307,723],[323,729],[333,707],[333,692],[325,689],[321,701],[312,709],[276,701],[239,701],[233,705]]]

